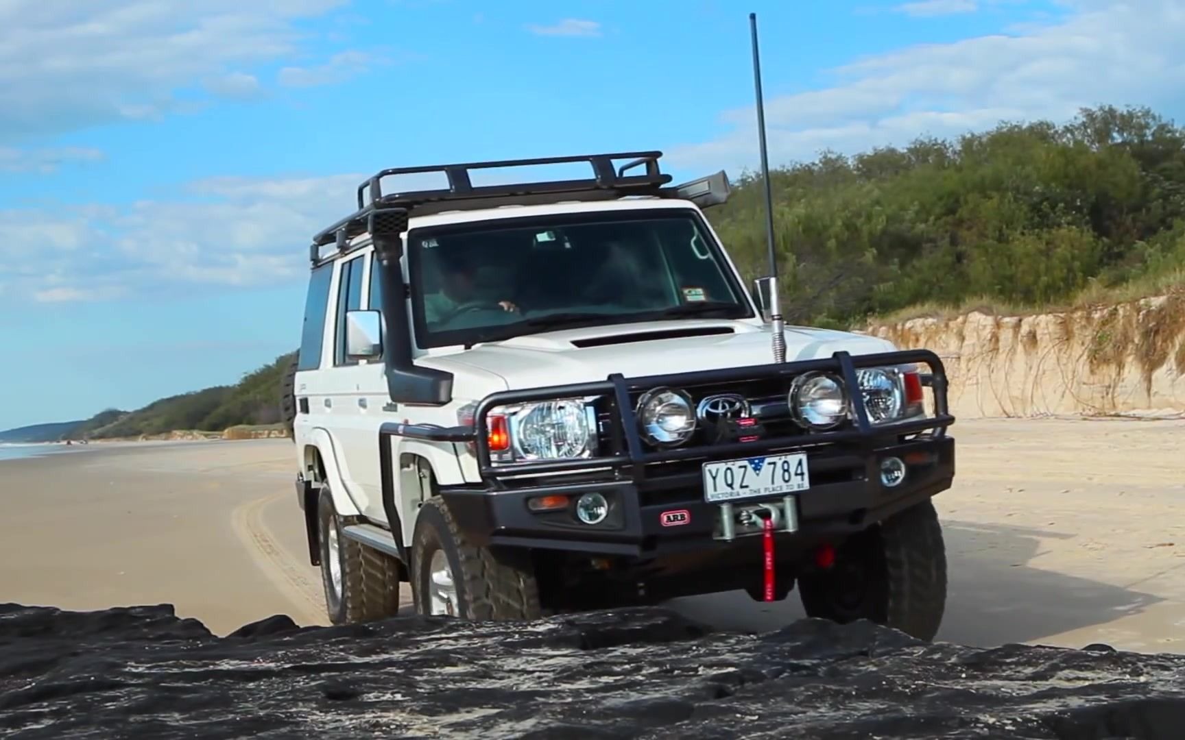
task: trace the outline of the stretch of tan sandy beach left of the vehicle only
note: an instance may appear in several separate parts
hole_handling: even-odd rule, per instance
[[[0,463],[0,600],[177,605],[217,633],[327,624],[292,488],[293,443],[149,442]]]

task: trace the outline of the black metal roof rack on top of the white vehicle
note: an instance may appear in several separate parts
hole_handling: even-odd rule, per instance
[[[405,218],[412,212],[423,214],[450,210],[489,208],[499,205],[540,205],[562,200],[614,200],[628,195],[687,198],[702,206],[724,202],[728,198],[728,176],[723,172],[673,188],[664,187],[671,182],[671,175],[659,170],[659,157],[661,156],[661,152],[626,152],[383,169],[358,186],[358,210],[354,213],[313,237],[310,256],[315,263],[320,259],[319,247],[332,243],[335,243],[339,249],[345,247],[350,239],[367,230],[370,217],[377,211],[398,210],[403,212]],[[615,169],[614,160],[630,161]],[[474,186],[469,176],[470,170],[474,169],[576,162],[590,165],[592,176],[582,180],[486,186]],[[642,166],[645,166],[642,174],[626,174]],[[383,193],[383,178],[425,173],[444,173],[448,187],[431,191]]]

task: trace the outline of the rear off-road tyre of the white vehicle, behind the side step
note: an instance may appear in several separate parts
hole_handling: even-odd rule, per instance
[[[398,561],[342,534],[353,523],[338,516],[328,484],[318,498],[318,541],[321,548],[321,585],[325,606],[333,624],[356,624],[393,617],[399,611]],[[331,530],[337,536],[341,593],[333,586],[329,552]]]

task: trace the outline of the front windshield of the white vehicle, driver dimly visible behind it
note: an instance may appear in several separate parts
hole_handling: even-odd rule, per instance
[[[686,208],[415,229],[408,257],[421,347],[578,326],[752,316],[700,218]]]

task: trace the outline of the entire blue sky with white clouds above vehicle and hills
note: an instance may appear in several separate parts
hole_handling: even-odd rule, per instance
[[[754,167],[750,11],[774,165],[1098,103],[1180,115],[1168,0],[7,0],[0,429],[295,348],[308,239],[383,167]]]

